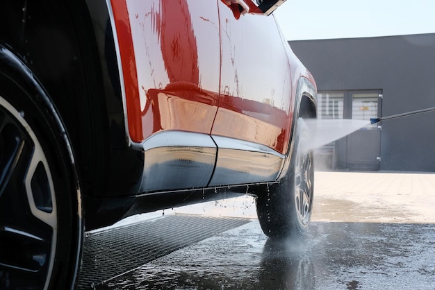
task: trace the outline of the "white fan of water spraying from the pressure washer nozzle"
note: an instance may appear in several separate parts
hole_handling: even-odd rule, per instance
[[[310,135],[309,149],[320,148],[370,124],[370,121],[352,119],[305,119],[304,122]]]

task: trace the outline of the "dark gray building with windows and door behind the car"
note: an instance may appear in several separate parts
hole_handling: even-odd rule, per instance
[[[318,85],[318,118],[435,107],[435,33],[289,42]],[[320,169],[435,172],[435,112],[385,119],[318,148]]]

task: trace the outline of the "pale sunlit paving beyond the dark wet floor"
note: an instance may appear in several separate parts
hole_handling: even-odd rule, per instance
[[[435,223],[435,173],[316,171],[311,221]],[[168,210],[256,219],[250,196]]]

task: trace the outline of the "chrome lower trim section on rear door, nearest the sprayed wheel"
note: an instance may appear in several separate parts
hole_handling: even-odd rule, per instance
[[[285,155],[261,144],[213,135],[217,147],[216,168],[208,186],[272,182]]]

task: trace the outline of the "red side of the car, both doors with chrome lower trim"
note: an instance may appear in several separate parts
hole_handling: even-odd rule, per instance
[[[145,155],[140,192],[277,180],[295,87],[274,17],[236,17],[215,0],[108,5],[128,136]],[[165,137],[175,142],[147,148]],[[196,146],[183,141],[190,137]]]

